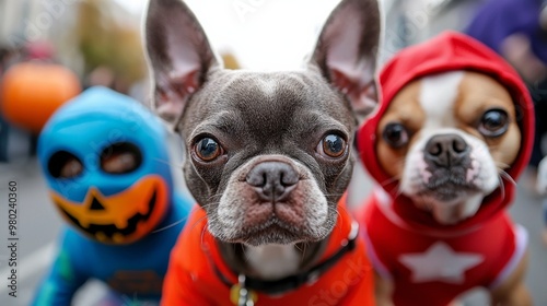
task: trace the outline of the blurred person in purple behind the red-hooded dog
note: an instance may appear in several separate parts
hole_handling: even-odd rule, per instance
[[[490,0],[478,11],[466,33],[503,56],[526,82],[536,111],[536,137],[529,162],[533,190],[537,167],[547,154],[547,1]]]

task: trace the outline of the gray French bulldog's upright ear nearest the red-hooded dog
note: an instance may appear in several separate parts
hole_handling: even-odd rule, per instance
[[[323,26],[312,56],[311,63],[348,97],[360,121],[379,99],[380,35],[377,0],[342,0]]]

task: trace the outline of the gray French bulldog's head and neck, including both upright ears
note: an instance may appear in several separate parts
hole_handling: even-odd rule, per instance
[[[150,1],[153,107],[184,139],[187,187],[235,274],[272,281],[321,266],[356,128],[377,101],[380,19],[376,0],[342,0],[302,70],[236,71],[185,3]]]

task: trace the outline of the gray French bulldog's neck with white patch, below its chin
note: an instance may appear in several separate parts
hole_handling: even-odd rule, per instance
[[[237,274],[272,281],[294,275],[317,263],[325,251],[328,238],[318,243],[263,245],[217,242],[222,258]]]

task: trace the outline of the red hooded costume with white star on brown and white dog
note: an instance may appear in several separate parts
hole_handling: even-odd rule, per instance
[[[394,281],[395,305],[421,305],[412,302],[416,296],[427,296],[428,305],[446,305],[472,287],[494,287],[512,272],[526,248],[526,232],[513,225],[505,212],[515,192],[507,178],[502,188],[485,198],[474,216],[441,225],[397,193],[398,181],[393,181],[375,158],[376,127],[397,92],[412,80],[452,70],[491,75],[509,90],[520,108],[522,140],[507,173],[516,179],[529,158],[532,101],[516,72],[493,51],[462,34],[446,33],[403,50],[387,63],[380,80],[382,105],[358,136],[362,161],[383,189],[376,188],[359,219],[365,227],[373,266]]]

